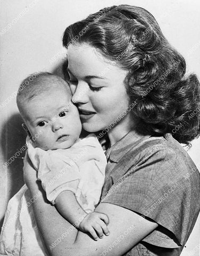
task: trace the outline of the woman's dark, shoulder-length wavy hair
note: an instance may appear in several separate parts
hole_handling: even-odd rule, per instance
[[[129,70],[124,84],[140,132],[171,133],[187,145],[198,137],[197,76],[185,76],[185,59],[166,40],[151,13],[130,5],[106,7],[66,28],[63,46],[77,43],[95,47]]]

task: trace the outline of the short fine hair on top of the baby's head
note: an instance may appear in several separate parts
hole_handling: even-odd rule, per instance
[[[25,78],[19,86],[18,94],[16,95],[16,104],[23,116],[23,102],[29,102],[41,94],[53,93],[60,87],[62,90],[71,96],[71,91],[68,83],[66,83],[60,76],[48,72],[33,73]]]

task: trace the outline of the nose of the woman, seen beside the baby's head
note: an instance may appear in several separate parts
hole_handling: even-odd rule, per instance
[[[78,84],[72,96],[73,103],[87,103],[88,102],[88,89],[85,84]]]

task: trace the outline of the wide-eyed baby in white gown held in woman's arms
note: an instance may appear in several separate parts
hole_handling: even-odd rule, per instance
[[[94,212],[104,183],[106,157],[95,134],[79,138],[79,112],[71,102],[68,84],[61,77],[40,73],[18,91],[17,105],[28,134],[28,155],[48,201],[95,240],[103,233],[109,235],[107,215]],[[47,255],[32,206],[27,204],[30,199],[26,185],[11,198],[0,238],[1,255]]]

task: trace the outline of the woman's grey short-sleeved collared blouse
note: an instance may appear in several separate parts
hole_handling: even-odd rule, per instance
[[[151,137],[130,131],[106,157],[100,202],[159,224],[124,255],[180,255],[200,210],[199,172],[185,149],[170,133]]]

